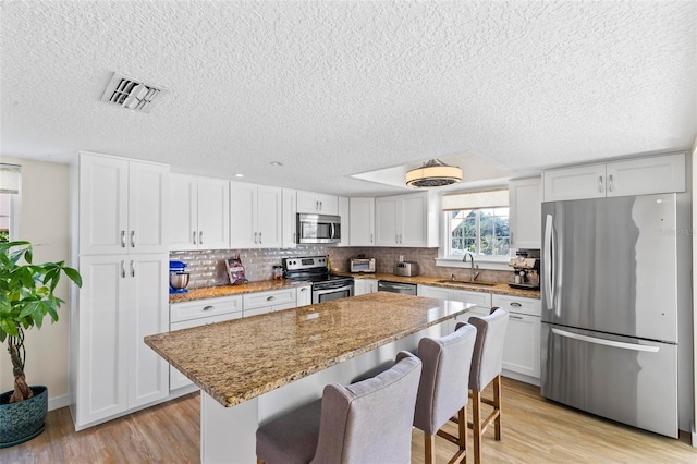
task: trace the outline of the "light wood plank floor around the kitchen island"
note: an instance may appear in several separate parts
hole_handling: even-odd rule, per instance
[[[485,463],[697,463],[686,434],[674,440],[619,425],[543,400],[538,388],[505,378],[502,398],[502,440],[487,431]],[[46,431],[0,450],[0,463],[197,463],[199,407],[198,394],[191,394],[80,432],[66,407],[52,411]],[[437,439],[439,463],[452,447]],[[414,430],[412,463],[423,463],[423,435]]]

